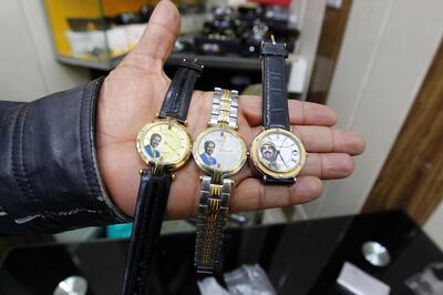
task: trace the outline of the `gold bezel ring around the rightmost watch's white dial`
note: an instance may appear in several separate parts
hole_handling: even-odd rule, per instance
[[[260,141],[268,136],[269,133],[280,133],[284,134],[286,136],[292,138],[300,146],[300,163],[295,166],[292,170],[288,171],[288,172],[284,172],[284,173],[279,173],[279,172],[275,172],[270,169],[268,169],[267,166],[265,166],[259,156],[258,156],[258,144],[260,143]],[[292,132],[287,131],[285,129],[278,129],[278,128],[272,128],[272,129],[267,129],[265,131],[262,131],[260,134],[257,135],[257,138],[254,139],[253,144],[250,146],[250,159],[253,160],[254,165],[262,173],[269,176],[272,176],[275,179],[293,179],[296,177],[301,169],[303,167],[305,163],[306,163],[306,150],[305,150],[305,145],[302,144],[302,142],[300,141],[299,138],[297,138]]]

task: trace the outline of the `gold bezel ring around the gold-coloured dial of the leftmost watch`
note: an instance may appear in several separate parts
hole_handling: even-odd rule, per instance
[[[143,138],[144,134],[147,132],[147,130],[156,126],[156,125],[161,125],[161,124],[172,124],[177,129],[183,130],[183,132],[186,134],[186,140],[187,140],[187,151],[184,155],[184,157],[179,159],[176,162],[173,163],[167,163],[167,161],[165,161],[165,163],[162,163],[164,165],[165,169],[173,171],[176,170],[181,166],[183,166],[186,161],[189,159],[190,156],[190,151],[192,151],[192,146],[193,146],[193,142],[189,135],[189,132],[187,132],[187,130],[185,129],[185,126],[181,123],[178,123],[175,119],[172,118],[167,118],[167,119],[157,119],[154,120],[145,125],[143,125],[143,128],[141,129],[141,131],[137,134],[137,139],[136,139],[136,148],[137,148],[137,152],[140,157],[143,160],[143,162],[145,162],[147,165],[150,166],[155,166],[157,164],[157,161],[154,159],[151,159],[148,155],[146,155],[143,151],[144,146],[143,146]],[[161,134],[162,135],[162,134]]]

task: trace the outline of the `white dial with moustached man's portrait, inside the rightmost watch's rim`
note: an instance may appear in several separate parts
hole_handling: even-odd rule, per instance
[[[285,173],[300,164],[300,146],[297,141],[285,134],[271,133],[258,144],[259,161],[269,170]]]

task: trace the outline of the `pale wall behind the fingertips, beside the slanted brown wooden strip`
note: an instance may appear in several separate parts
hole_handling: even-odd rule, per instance
[[[353,1],[328,104],[338,126],[364,136],[367,151],[351,177],[326,183],[302,206],[306,216],[360,212],[439,48],[441,11],[440,0]]]

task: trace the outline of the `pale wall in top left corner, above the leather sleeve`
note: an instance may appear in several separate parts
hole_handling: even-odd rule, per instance
[[[55,61],[43,1],[0,1],[0,100],[30,101],[89,81]]]

